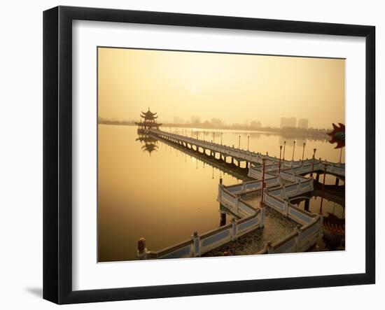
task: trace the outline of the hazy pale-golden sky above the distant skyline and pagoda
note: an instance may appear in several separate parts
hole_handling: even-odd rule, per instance
[[[150,107],[160,122],[345,122],[344,59],[98,48],[98,62],[101,118],[139,120]]]

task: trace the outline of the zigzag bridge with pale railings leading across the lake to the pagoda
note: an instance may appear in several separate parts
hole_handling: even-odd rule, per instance
[[[314,158],[300,161],[281,160],[269,155],[164,132],[158,128],[141,130],[144,134],[184,149],[187,153],[198,153],[198,155],[200,153],[216,161],[248,169],[247,176],[251,181],[225,186],[221,180],[218,184],[218,202],[221,207],[237,216],[237,219],[233,218],[230,224],[200,235],[194,232],[190,239],[161,251],[148,251],[145,240],[139,239],[137,253],[139,259],[188,258],[204,255],[257,228],[263,229],[266,206],[295,221],[297,227],[294,232],[274,244],[265,244],[265,247],[258,252],[259,254],[303,252],[323,236],[323,216],[310,213],[306,209],[302,210],[292,201],[295,200],[294,197],[302,198],[313,191],[319,174],[332,174],[336,177],[336,185],[338,185],[338,181],[345,178],[345,164]],[[241,167],[242,162],[244,167]],[[307,176],[309,174],[310,176]],[[316,174],[316,180],[313,174]],[[260,207],[252,206],[242,199],[245,194],[251,192],[261,193]]]

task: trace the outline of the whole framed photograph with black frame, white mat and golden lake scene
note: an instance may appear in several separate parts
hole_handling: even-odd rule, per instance
[[[375,281],[372,26],[43,14],[43,297]]]

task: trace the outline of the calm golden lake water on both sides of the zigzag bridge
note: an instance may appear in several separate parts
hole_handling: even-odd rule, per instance
[[[170,130],[216,143],[222,139],[223,144],[235,147],[240,141],[245,150],[268,152],[276,157],[279,146],[287,141],[285,158],[293,156],[293,140],[277,134],[165,128]],[[138,138],[137,127],[99,125],[100,262],[136,260],[137,240],[141,237],[146,238],[149,251],[158,251],[189,239],[194,231],[202,234],[219,227],[219,178],[223,178],[225,185],[241,182],[241,175],[224,173],[162,141],[146,144]],[[328,141],[312,139],[297,140],[295,160],[302,158],[303,143],[304,158],[310,158],[313,148],[317,148],[317,158],[339,161],[339,150]],[[330,211],[329,206],[326,209]]]

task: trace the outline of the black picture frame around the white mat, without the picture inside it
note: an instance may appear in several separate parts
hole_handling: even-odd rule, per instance
[[[72,21],[211,27],[365,38],[365,273],[182,285],[72,288]],[[375,282],[375,27],[244,17],[58,6],[43,13],[43,298],[57,304],[265,290],[351,286]]]

